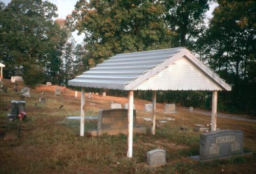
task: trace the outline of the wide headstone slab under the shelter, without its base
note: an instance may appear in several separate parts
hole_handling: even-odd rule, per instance
[[[125,109],[100,110],[98,129],[126,128],[128,111]],[[136,127],[136,110],[133,110],[133,126]]]

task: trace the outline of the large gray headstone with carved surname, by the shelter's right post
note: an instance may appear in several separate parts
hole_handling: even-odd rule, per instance
[[[243,153],[242,130],[216,130],[200,135],[200,160],[218,159]]]

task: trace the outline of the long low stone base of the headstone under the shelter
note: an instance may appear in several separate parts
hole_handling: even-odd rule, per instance
[[[88,134],[90,134],[93,137],[102,136],[103,134],[108,134],[108,135],[124,134],[124,135],[127,135],[127,133],[128,133],[128,128],[91,129],[91,130],[88,130]],[[146,127],[134,127],[133,128],[133,133],[146,134]]]

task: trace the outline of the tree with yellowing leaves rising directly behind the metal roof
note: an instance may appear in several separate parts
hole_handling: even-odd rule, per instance
[[[90,67],[117,54],[172,47],[173,33],[164,24],[159,1],[80,0],[68,25],[85,33]]]

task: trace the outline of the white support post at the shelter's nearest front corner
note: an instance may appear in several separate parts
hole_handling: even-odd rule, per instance
[[[127,157],[133,157],[133,91],[129,91],[129,102],[128,102],[128,137],[127,137]]]

